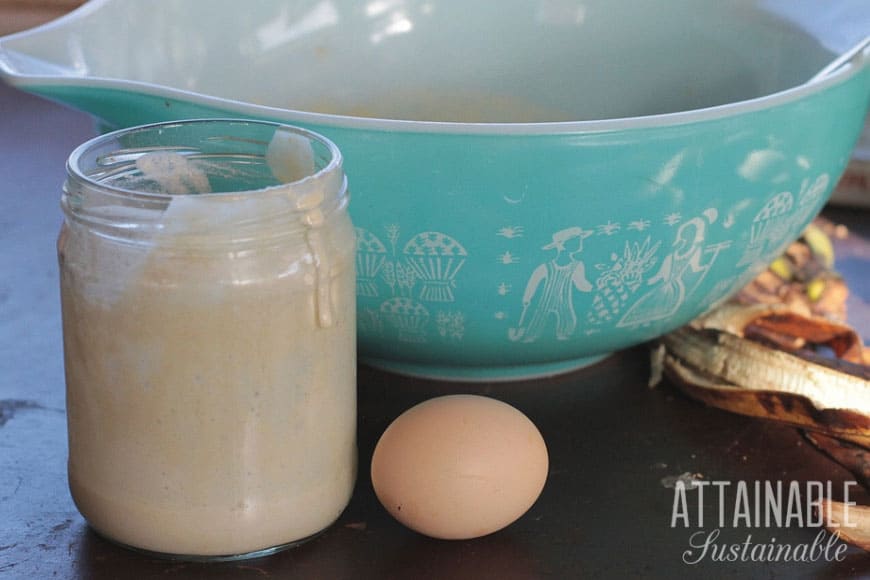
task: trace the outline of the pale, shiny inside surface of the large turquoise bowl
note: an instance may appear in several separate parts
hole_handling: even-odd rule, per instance
[[[18,53],[7,66],[38,61],[51,74],[282,109],[578,121],[699,109],[799,85],[836,52],[808,24],[818,19],[806,7],[826,4],[110,0],[4,44]]]

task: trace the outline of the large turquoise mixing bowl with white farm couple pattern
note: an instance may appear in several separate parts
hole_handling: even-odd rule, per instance
[[[108,127],[326,135],[360,356],[505,379],[684,324],[799,235],[867,112],[868,51],[826,65],[868,30],[865,0],[95,0],[0,70]]]

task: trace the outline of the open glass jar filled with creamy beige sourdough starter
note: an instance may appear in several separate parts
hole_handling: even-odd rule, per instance
[[[70,156],[58,239],[69,484],[107,538],[260,556],[356,476],[355,236],[314,133],[198,120]]]

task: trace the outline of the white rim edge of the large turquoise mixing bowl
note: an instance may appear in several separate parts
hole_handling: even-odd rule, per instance
[[[16,68],[12,66],[5,57],[6,53],[28,56],[8,46],[8,44],[13,43],[15,40],[63,28],[70,22],[87,18],[92,12],[96,12],[104,4],[109,4],[114,1],[116,0],[89,0],[78,8],[55,20],[46,22],[45,24],[34,28],[0,37],[0,79],[16,88],[35,93],[50,93],[48,87],[114,90],[164,99],[171,98],[193,105],[217,109],[221,114],[216,116],[226,117],[227,114],[237,114],[243,117],[266,119],[281,123],[301,123],[321,127],[401,133],[440,133],[455,135],[560,135],[663,128],[702,121],[713,121],[761,111],[798,101],[808,95],[822,92],[830,87],[844,83],[861,73],[863,69],[870,66],[870,44],[867,44],[870,37],[867,37],[863,40],[863,48],[857,50],[845,62],[840,63],[835,70],[827,72],[826,74],[816,75],[815,77],[794,87],[751,99],[733,101],[699,109],[687,109],[670,113],[608,119],[551,122],[473,123],[459,121],[418,121],[412,119],[388,119],[317,113],[299,109],[286,109],[269,105],[260,105],[248,101],[208,95],[159,83],[118,77],[100,77],[83,74],[28,74],[16,70]],[[43,87],[46,87],[46,89],[43,89]],[[50,95],[46,94],[46,96]]]

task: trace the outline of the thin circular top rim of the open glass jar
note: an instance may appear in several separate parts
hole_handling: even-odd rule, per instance
[[[297,179],[295,181],[289,181],[284,183],[279,183],[275,185],[267,185],[258,188],[251,189],[240,189],[233,191],[210,191],[210,192],[197,192],[195,193],[196,197],[227,197],[227,196],[250,196],[258,193],[267,193],[273,191],[280,191],[281,193],[286,193],[288,191],[292,191],[297,188],[307,188],[314,184],[324,182],[332,178],[336,173],[338,173],[342,179],[341,185],[337,188],[337,198],[342,198],[346,194],[346,180],[342,175],[342,165],[343,158],[341,151],[338,146],[332,142],[330,139],[324,137],[323,135],[316,133],[314,131],[305,129],[303,127],[298,127],[295,125],[288,125],[285,123],[277,123],[273,121],[265,121],[260,119],[244,119],[244,118],[232,118],[232,117],[209,117],[209,118],[195,118],[195,119],[181,119],[181,120],[173,120],[173,121],[160,121],[156,123],[148,123],[144,125],[136,125],[131,127],[125,127],[121,129],[117,129],[115,131],[111,131],[108,133],[103,133],[88,141],[82,143],[78,147],[76,147],[67,158],[66,169],[67,169],[67,177],[68,179],[73,179],[79,182],[80,185],[85,185],[89,188],[96,188],[100,190],[102,194],[108,195],[118,195],[125,198],[135,197],[147,201],[152,202],[169,202],[173,198],[179,197],[179,195],[189,195],[189,194],[173,194],[173,193],[165,193],[165,192],[155,192],[155,191],[143,191],[131,188],[120,187],[118,185],[107,183],[105,181],[94,178],[91,174],[87,173],[83,170],[81,166],[81,162],[83,159],[93,153],[95,150],[99,149],[101,146],[111,142],[112,140],[118,139],[124,135],[130,135],[134,133],[145,133],[145,132],[153,132],[153,131],[161,131],[169,128],[177,128],[181,126],[195,126],[195,125],[214,125],[214,126],[234,126],[234,125],[256,125],[260,127],[273,127],[276,131],[282,130],[287,131],[302,137],[305,137],[312,143],[318,143],[321,145],[329,154],[329,161],[321,167],[320,169],[316,169],[313,173],[305,175],[304,177]]]

